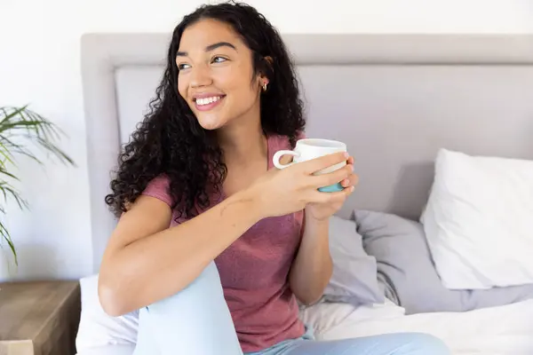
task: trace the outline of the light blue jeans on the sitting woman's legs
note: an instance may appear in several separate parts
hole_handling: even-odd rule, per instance
[[[211,262],[187,288],[139,311],[133,355],[243,355],[227,309],[219,272]],[[432,335],[397,333],[315,341],[312,331],[246,355],[449,355]]]

